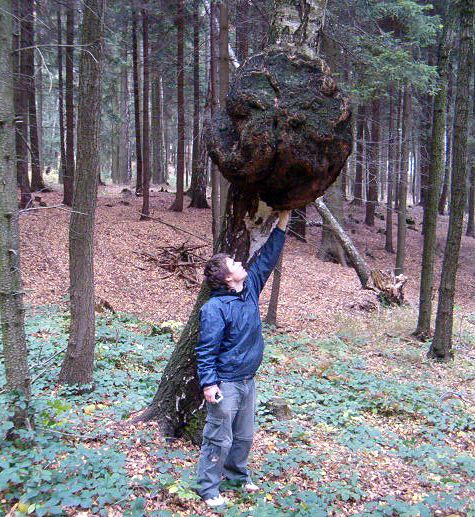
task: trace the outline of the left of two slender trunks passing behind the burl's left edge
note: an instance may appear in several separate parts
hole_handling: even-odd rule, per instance
[[[216,0],[211,0],[210,24],[209,24],[209,44],[210,44],[210,89],[211,89],[211,116],[213,117],[218,103],[217,87],[217,37],[214,19],[216,17]],[[219,238],[220,220],[220,192],[219,192],[219,171],[214,163],[211,163],[211,211],[213,229],[213,249],[216,249]]]

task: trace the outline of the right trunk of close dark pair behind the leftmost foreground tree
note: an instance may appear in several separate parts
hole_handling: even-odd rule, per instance
[[[21,31],[25,50],[25,70],[23,81],[26,84],[26,96],[28,99],[28,118],[30,131],[30,156],[31,156],[31,190],[38,191],[45,188],[41,174],[40,151],[38,144],[38,122],[36,113],[36,86],[35,86],[35,55],[34,55],[34,0],[22,0],[23,15],[21,19]]]

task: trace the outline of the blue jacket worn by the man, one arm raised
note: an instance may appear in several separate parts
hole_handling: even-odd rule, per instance
[[[247,271],[244,289],[212,291],[201,308],[196,355],[202,388],[254,377],[264,353],[259,295],[284,242],[285,232],[275,228]]]

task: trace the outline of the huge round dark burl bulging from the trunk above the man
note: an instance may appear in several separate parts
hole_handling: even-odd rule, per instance
[[[301,208],[335,181],[351,152],[351,112],[326,63],[271,50],[236,72],[207,124],[223,176],[275,210]]]

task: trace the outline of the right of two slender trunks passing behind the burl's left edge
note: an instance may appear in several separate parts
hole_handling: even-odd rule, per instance
[[[222,108],[229,90],[229,10],[228,0],[219,5],[219,105]],[[220,174],[220,220],[224,218],[229,182]]]

